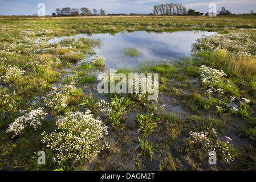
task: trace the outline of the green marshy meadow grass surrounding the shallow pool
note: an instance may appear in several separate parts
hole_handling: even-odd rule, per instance
[[[96,73],[101,72],[104,65],[99,67],[80,60],[95,55],[93,49],[100,46],[100,40],[67,37],[61,42],[46,43],[56,36],[144,31],[148,26],[152,29],[147,31],[155,32],[207,30],[225,32],[223,35],[232,32],[231,36],[235,35],[234,32],[249,32],[247,38],[253,41],[254,31],[249,28],[256,28],[254,16],[4,17],[0,23],[1,76],[6,76],[5,68],[9,64],[25,71],[22,76],[10,82],[3,79],[0,82],[1,169],[255,169],[255,147],[251,145],[256,138],[253,117],[256,103],[255,56],[235,55],[230,51],[234,48],[232,44],[226,50],[198,51],[180,61],[144,61],[135,68],[118,69],[117,73],[127,76],[128,73],[159,73],[158,102],[148,102],[138,101],[129,94],[97,94],[94,90],[97,84]],[[45,40],[34,43],[35,38],[42,37]],[[246,39],[237,40],[246,43]],[[124,56],[140,56],[140,52],[135,48],[127,48]],[[222,69],[226,73],[215,88],[223,89],[223,94],[218,91],[208,93],[207,90],[211,88],[202,84],[198,71],[201,65]],[[45,105],[44,97],[54,90],[54,86],[58,89],[60,84],[70,85],[72,82],[77,89],[68,94],[67,105],[61,111],[57,112]],[[234,101],[230,101],[230,96],[235,97]],[[242,104],[242,98],[249,99],[250,103]],[[26,131],[24,135],[11,139],[11,134],[5,132],[10,123],[23,113],[40,106],[44,106],[48,113],[42,128],[34,133]],[[232,110],[233,106],[238,110]],[[58,117],[64,113],[87,109],[108,126],[108,135],[99,142],[109,141],[109,148],[97,154],[96,159],[99,160],[95,163],[91,157],[77,162],[67,159],[60,165],[52,162],[51,158],[56,151],[40,142],[42,131],[54,131]],[[193,139],[189,131],[198,133],[209,129],[215,129],[220,143],[225,140],[225,136],[231,135],[229,137],[234,138],[232,141],[235,142],[230,141],[233,146],[229,151],[235,158],[234,162],[218,160],[221,165],[209,166],[205,162],[208,153],[204,147],[200,143],[190,143]],[[210,138],[218,142],[213,135]],[[36,154],[40,150],[46,152],[46,165],[37,163]]]

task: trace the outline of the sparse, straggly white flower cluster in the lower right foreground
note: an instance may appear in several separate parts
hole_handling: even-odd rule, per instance
[[[214,131],[214,129],[210,130],[209,133],[204,131],[201,131],[200,133],[190,131],[189,134],[193,138],[191,143],[201,145],[208,152],[218,152],[217,156],[222,156],[227,163],[230,163],[230,161],[234,160],[234,158],[231,156],[229,152],[228,146],[229,141],[231,141],[231,138],[225,137],[226,142],[220,142],[218,139],[216,139],[218,133]]]

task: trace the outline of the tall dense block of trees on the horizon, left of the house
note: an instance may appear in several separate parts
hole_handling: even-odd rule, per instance
[[[186,7],[181,3],[166,3],[153,6],[154,15],[188,15]]]

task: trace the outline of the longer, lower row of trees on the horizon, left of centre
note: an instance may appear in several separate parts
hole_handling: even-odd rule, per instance
[[[87,7],[82,7],[80,9],[70,7],[63,7],[62,9],[56,8],[55,13],[52,13],[52,16],[92,16],[92,15],[106,15],[106,12],[103,9],[100,9],[99,13],[96,9],[92,11],[89,10]]]

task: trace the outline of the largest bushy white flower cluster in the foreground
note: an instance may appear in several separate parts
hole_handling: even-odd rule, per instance
[[[47,147],[55,150],[56,157],[53,158],[59,164],[63,159],[88,158],[90,155],[96,155],[100,149],[108,147],[105,142],[99,146],[99,140],[103,135],[107,135],[107,126],[99,119],[95,119],[90,110],[82,112],[66,113],[66,116],[58,117],[56,125],[58,129],[51,134],[42,133],[44,143]]]

